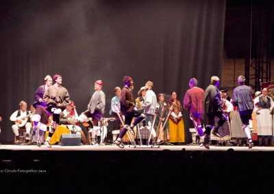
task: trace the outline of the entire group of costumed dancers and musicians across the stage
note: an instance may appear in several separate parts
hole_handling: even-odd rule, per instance
[[[62,76],[55,74],[52,79],[47,75],[45,85],[36,89],[30,111],[22,100],[20,109],[10,116],[14,122],[15,143],[20,143],[19,132],[23,130],[26,143],[37,143],[39,147],[45,145],[51,148],[55,143],[54,135],[60,133],[79,134],[83,144],[105,145],[106,127],[109,121],[113,121],[112,145],[119,148],[124,148],[125,143],[132,146],[136,143],[147,146],[162,143],[180,145],[186,141],[183,109],[188,111],[194,126],[195,144],[199,147],[210,149],[210,144],[216,140],[219,145],[232,142],[234,146],[246,144],[252,148],[255,132],[258,146],[270,146],[272,143],[273,99],[268,96],[267,88],[256,92],[253,97],[252,89],[245,85],[242,75],[238,77],[238,87],[234,88],[232,98],[227,96],[227,91],[219,91],[219,77],[212,76],[205,90],[198,87],[197,79],[192,78],[182,102],[175,91],[171,92],[170,99],[165,99],[166,95],[162,93],[156,95],[152,81],[147,81],[138,91],[138,97],[134,98],[132,77],[123,77],[123,83],[123,89],[114,88],[110,117],[105,118],[103,81],[95,81],[95,92],[86,111],[78,115],[68,90],[62,86]],[[79,123],[87,128],[88,138]]]

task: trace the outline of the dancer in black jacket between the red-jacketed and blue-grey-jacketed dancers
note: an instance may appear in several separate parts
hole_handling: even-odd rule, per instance
[[[210,149],[210,133],[216,137],[221,137],[218,133],[218,129],[222,126],[226,118],[223,116],[223,106],[220,91],[217,88],[220,83],[219,77],[213,76],[210,80],[210,85],[206,88],[204,98],[204,113],[206,114],[206,131],[203,138],[203,146]],[[219,121],[215,123],[215,116],[219,117]]]

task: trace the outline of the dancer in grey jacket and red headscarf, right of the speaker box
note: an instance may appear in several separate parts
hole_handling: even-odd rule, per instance
[[[98,145],[98,143],[95,141],[95,136],[100,129],[100,126],[98,126],[98,121],[101,119],[101,117],[103,117],[103,113],[105,111],[105,94],[101,90],[102,87],[103,81],[95,81],[95,92],[92,94],[90,102],[88,103],[88,110],[84,113],[81,113],[79,117],[80,122],[87,122],[89,124],[88,133],[91,133],[90,143],[93,146]],[[93,123],[90,121],[89,118],[92,118]]]

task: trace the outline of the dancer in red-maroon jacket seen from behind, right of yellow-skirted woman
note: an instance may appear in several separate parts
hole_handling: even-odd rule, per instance
[[[190,89],[186,91],[184,96],[184,109],[187,109],[188,113],[190,113],[190,119],[198,133],[197,136],[200,137],[201,141],[203,141],[201,117],[203,117],[204,91],[200,87],[197,87],[198,81],[195,78],[190,79],[188,85]]]

